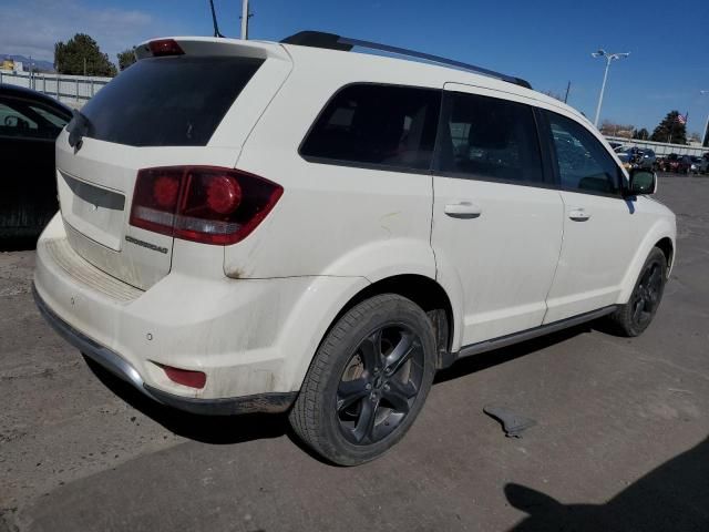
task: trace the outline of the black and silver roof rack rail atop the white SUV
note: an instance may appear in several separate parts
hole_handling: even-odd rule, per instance
[[[379,50],[382,52],[394,53],[398,55],[405,55],[409,58],[423,59],[432,63],[444,64],[448,66],[456,66],[462,70],[475,72],[477,74],[487,75],[497,80],[514,83],[527,89],[532,89],[528,81],[522,78],[515,78],[513,75],[502,74],[494,70],[483,69],[482,66],[475,66],[474,64],[463,63],[461,61],[454,61],[452,59],[442,58],[440,55],[432,55],[430,53],[417,52],[414,50],[408,50],[405,48],[390,47],[389,44],[380,44],[371,41],[361,41],[359,39],[350,39],[349,37],[336,35],[335,33],[326,33],[323,31],[301,31],[294,35],[287,37],[282,41],[284,44],[298,44],[300,47],[325,48],[328,50],[340,50],[349,52],[354,47],[368,48],[370,50]]]

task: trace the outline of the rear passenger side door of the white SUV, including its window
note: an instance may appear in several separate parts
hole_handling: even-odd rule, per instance
[[[463,345],[542,324],[563,205],[531,106],[446,84],[434,175],[439,276],[463,295]]]

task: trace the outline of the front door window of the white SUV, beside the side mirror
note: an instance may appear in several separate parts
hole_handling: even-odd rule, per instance
[[[619,170],[606,149],[583,125],[547,113],[562,188],[617,194]]]

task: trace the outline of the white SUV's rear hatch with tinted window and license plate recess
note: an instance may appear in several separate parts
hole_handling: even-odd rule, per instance
[[[141,289],[171,270],[173,236],[130,224],[138,171],[233,168],[290,68],[276,44],[157,42],[172,44],[140,47],[141,59],[86,103],[56,141],[58,191],[71,246]]]

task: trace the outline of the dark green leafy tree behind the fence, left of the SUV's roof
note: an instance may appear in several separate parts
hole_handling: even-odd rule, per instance
[[[76,33],[65,43],[54,44],[54,69],[60,74],[109,75],[117,72],[109,61],[109,55],[101,52],[99,44],[85,33]]]

